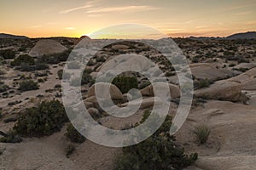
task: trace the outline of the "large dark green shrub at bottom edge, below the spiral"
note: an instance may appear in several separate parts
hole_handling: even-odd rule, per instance
[[[148,111],[144,115],[142,122],[149,116]],[[172,118],[167,116],[151,137],[123,148],[124,156],[119,156],[115,161],[114,169],[164,170],[183,169],[191,165],[197,159],[197,154],[184,154],[183,148],[175,143],[175,137],[169,134],[171,124]]]

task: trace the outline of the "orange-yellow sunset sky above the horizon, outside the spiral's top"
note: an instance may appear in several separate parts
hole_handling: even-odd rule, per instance
[[[0,32],[81,37],[124,23],[171,37],[256,31],[256,0],[0,0]]]

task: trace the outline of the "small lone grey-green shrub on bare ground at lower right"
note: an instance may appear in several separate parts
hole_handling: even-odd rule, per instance
[[[211,133],[211,130],[206,125],[199,125],[195,127],[194,133],[200,144],[205,144]]]

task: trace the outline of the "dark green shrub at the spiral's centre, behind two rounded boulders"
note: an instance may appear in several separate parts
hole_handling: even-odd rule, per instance
[[[125,77],[125,76],[118,76],[114,77],[112,82],[119,90],[125,94],[131,88],[138,88],[137,77]]]

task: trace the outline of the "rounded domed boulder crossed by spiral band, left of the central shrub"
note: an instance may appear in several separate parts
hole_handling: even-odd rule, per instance
[[[119,88],[117,88],[115,85],[109,84],[107,82],[97,82],[92,87],[90,87],[89,91],[88,91],[88,94],[87,94],[87,98],[90,98],[92,96],[96,96],[95,86],[97,86],[97,88],[99,88],[99,89],[104,89],[104,88],[108,88],[109,85],[110,85],[109,90],[110,90],[111,98],[112,99],[123,99],[123,94],[121,93]],[[102,90],[100,93],[102,93],[102,96],[105,96],[105,99],[107,99],[108,93],[106,91]]]

